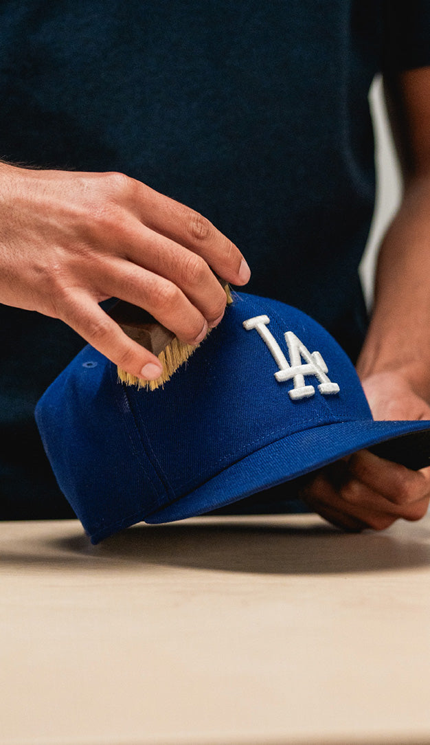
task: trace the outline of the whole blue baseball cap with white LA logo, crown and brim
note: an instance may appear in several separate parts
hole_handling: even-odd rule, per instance
[[[121,384],[86,346],[38,402],[45,451],[92,543],[217,510],[377,443],[430,465],[430,422],[375,422],[322,326],[273,299],[233,297],[164,387]]]

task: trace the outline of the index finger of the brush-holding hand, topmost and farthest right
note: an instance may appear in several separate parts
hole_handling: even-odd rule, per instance
[[[194,251],[222,279],[246,285],[250,268],[238,247],[200,212],[135,181],[134,212],[148,228]]]

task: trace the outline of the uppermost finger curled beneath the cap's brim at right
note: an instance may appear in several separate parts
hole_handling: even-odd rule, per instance
[[[350,457],[348,470],[393,504],[412,504],[430,494],[430,468],[412,471],[368,450],[360,450]]]

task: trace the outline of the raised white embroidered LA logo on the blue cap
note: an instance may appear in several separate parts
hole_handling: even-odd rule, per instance
[[[268,346],[268,349],[270,349],[271,354],[279,367],[279,370],[274,373],[276,380],[279,383],[283,383],[287,380],[292,380],[294,382],[294,388],[288,390],[288,396],[290,396],[293,401],[314,396],[314,386],[306,385],[305,375],[314,375],[314,377],[320,381],[318,390],[320,393],[323,393],[324,396],[339,393],[340,388],[338,384],[332,383],[327,375],[329,370],[322,355],[320,355],[320,352],[309,352],[309,349],[306,348],[303,342],[301,342],[292,331],[285,332],[284,337],[288,346],[288,355],[290,358],[290,364],[288,364],[282,349],[277,343],[274,335],[268,329],[268,323],[270,323],[270,318],[268,316],[255,316],[244,321],[243,326],[247,331],[256,329],[256,332],[259,333],[262,340]],[[306,362],[303,363],[302,359]]]

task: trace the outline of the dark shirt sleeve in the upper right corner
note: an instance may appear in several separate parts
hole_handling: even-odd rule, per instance
[[[430,0],[385,2],[385,69],[430,66]]]

